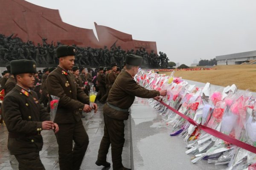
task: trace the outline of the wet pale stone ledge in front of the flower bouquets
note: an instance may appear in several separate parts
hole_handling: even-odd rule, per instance
[[[134,170],[220,170],[226,165],[208,164],[201,160],[192,164],[186,142],[169,136],[173,128],[148,105],[147,99],[136,98],[131,107],[131,166]]]

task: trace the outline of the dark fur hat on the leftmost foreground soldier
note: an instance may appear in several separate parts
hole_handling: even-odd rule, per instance
[[[34,60],[19,59],[10,62],[12,74],[36,73],[36,62]]]

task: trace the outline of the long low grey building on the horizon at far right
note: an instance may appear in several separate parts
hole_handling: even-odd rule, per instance
[[[217,65],[256,64],[256,51],[216,56]],[[255,61],[254,61],[255,60]]]

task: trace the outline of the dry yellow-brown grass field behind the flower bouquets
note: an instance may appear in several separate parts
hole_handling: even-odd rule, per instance
[[[256,92],[256,65],[217,65],[216,70],[176,71],[175,77],[213,85],[235,84],[238,89]]]

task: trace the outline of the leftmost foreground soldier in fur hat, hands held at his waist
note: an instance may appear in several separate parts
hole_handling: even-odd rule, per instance
[[[50,115],[39,104],[37,95],[29,88],[34,86],[36,63],[32,60],[13,60],[11,72],[17,85],[4,98],[3,119],[9,131],[8,149],[19,162],[19,170],[45,170],[39,156],[43,147],[41,130],[55,129]]]

